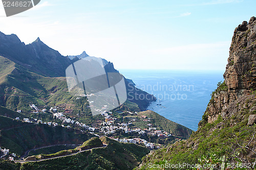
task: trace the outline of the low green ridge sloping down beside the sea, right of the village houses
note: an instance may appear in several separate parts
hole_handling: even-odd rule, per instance
[[[167,118],[159,115],[154,111],[147,110],[139,112],[139,114],[151,117],[155,127],[159,127],[160,129],[163,129],[169,133],[173,133],[174,135],[188,137],[193,132],[192,130],[172,122],[171,120],[168,120]]]

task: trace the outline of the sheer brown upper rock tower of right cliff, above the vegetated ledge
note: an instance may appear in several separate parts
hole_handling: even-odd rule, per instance
[[[229,90],[256,87],[256,18],[251,17],[234,30],[224,74]]]

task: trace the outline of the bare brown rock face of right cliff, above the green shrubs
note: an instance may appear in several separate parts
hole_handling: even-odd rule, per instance
[[[256,18],[244,21],[234,30],[224,73],[225,88],[213,93],[207,107],[207,122],[219,115],[227,117],[239,111],[238,103],[244,103],[251,90],[256,89]]]

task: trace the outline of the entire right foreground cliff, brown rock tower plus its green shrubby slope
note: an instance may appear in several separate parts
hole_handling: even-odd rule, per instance
[[[212,92],[198,130],[187,140],[151,152],[144,157],[140,168],[150,169],[150,163],[185,163],[198,164],[199,167],[215,165],[213,169],[253,169],[251,164],[256,160],[255,66],[256,18],[251,17],[249,22],[244,21],[234,30],[225,81],[218,83]]]

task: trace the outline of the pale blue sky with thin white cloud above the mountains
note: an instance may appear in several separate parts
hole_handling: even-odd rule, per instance
[[[0,6],[4,34],[117,69],[225,70],[234,29],[256,16],[255,0],[41,0],[11,17]]]

